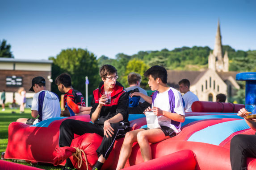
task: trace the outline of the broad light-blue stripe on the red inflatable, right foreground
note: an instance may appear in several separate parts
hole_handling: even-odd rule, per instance
[[[226,121],[195,132],[188,141],[219,145],[234,132],[246,129],[250,127],[244,120]]]

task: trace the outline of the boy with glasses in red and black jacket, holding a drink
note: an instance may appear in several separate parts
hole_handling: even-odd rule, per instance
[[[74,134],[96,133],[103,137],[100,147],[96,150],[98,161],[92,170],[100,170],[113,149],[114,141],[122,138],[129,131],[128,95],[124,87],[116,81],[117,70],[112,65],[100,68],[102,82],[93,91],[90,117],[92,123],[67,119],[60,125],[59,146],[70,146]],[[105,92],[110,93],[110,104],[106,104]],[[64,170],[74,169],[70,159]]]

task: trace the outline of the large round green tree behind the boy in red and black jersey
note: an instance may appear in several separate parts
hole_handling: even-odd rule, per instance
[[[92,91],[97,88],[101,81],[96,56],[87,49],[65,49],[56,58],[50,57],[49,59],[53,60],[52,77],[55,78],[63,72],[69,73],[73,88],[81,93],[85,91],[85,76],[88,76],[90,82],[88,85],[89,94],[92,94]],[[56,88],[53,89],[56,90]]]

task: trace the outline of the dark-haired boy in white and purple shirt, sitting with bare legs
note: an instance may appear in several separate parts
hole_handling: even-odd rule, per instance
[[[158,117],[161,128],[138,129],[126,133],[119,159],[117,170],[125,166],[130,157],[133,142],[138,142],[144,162],[151,160],[151,147],[149,143],[160,142],[180,133],[181,122],[185,121],[185,112],[182,97],[179,91],[167,86],[167,71],[164,67],[155,65],[144,73],[148,77],[151,90],[157,90],[152,96],[152,109]]]

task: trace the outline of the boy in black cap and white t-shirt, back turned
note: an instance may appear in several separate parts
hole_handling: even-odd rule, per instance
[[[19,118],[17,122],[34,125],[49,118],[60,117],[59,97],[55,93],[46,90],[45,82],[43,77],[33,78],[32,87],[29,91],[36,93],[31,106],[31,115],[34,118]],[[36,117],[38,118],[35,119]]]

